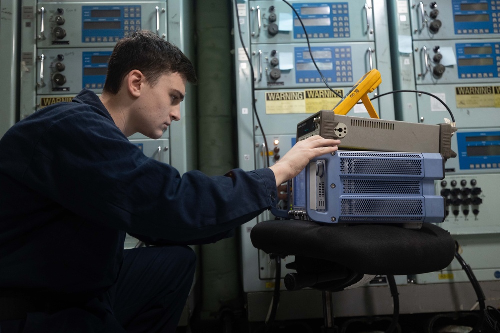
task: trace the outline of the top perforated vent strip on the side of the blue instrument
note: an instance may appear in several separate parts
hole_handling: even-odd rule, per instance
[[[422,160],[340,158],[342,174],[421,175]]]

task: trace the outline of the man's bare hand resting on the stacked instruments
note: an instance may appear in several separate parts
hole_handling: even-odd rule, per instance
[[[338,150],[340,140],[323,139],[319,135],[298,141],[278,162],[269,168],[276,177],[276,186],[298,175],[311,159]]]

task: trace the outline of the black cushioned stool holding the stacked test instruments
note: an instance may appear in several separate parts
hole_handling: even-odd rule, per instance
[[[394,224],[345,226],[273,220],[257,223],[250,237],[253,246],[266,253],[281,258],[295,256],[295,262],[287,267],[297,273],[287,274],[285,286],[288,290],[311,287],[323,291],[326,332],[333,332],[328,292],[360,283],[365,275],[438,271],[455,255],[451,235],[428,223],[421,229],[407,229]]]

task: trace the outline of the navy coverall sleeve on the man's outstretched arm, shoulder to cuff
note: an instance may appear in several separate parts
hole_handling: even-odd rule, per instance
[[[111,120],[82,113],[51,126],[37,142],[24,177],[90,223],[189,242],[221,237],[277,202],[270,169],[181,176],[144,156]]]

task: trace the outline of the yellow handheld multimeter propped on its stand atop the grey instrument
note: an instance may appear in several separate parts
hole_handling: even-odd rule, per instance
[[[368,93],[373,92],[373,90],[375,90],[381,82],[382,77],[380,76],[380,72],[377,69],[370,70],[364,74],[359,81],[357,81],[344,98],[342,98],[340,102],[335,105],[332,111],[335,112],[335,114],[346,115],[347,112],[349,112],[350,109],[352,109],[354,105],[361,100],[366,110],[368,110],[370,117],[380,119],[373,108],[373,104],[371,104]]]

